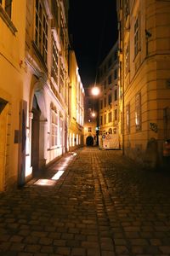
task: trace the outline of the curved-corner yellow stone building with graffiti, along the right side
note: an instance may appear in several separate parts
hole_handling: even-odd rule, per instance
[[[162,166],[170,138],[170,2],[117,0],[122,148]]]

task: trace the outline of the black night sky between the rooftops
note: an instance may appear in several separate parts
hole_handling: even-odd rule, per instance
[[[99,63],[117,38],[116,0],[70,0],[69,31],[82,84],[94,84]]]

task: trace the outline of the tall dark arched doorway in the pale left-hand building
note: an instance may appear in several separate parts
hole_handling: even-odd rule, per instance
[[[39,169],[39,132],[40,132],[40,108],[37,98],[34,96],[32,104],[33,119],[31,123],[31,166],[33,176],[37,176]]]

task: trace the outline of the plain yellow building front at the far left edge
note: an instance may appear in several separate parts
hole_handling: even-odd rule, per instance
[[[0,1],[0,191],[18,175],[25,35],[26,1]]]

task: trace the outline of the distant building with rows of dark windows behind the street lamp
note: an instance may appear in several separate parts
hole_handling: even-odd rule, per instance
[[[99,66],[99,134],[111,134],[121,145],[119,129],[119,86],[118,86],[117,43],[111,48]]]

